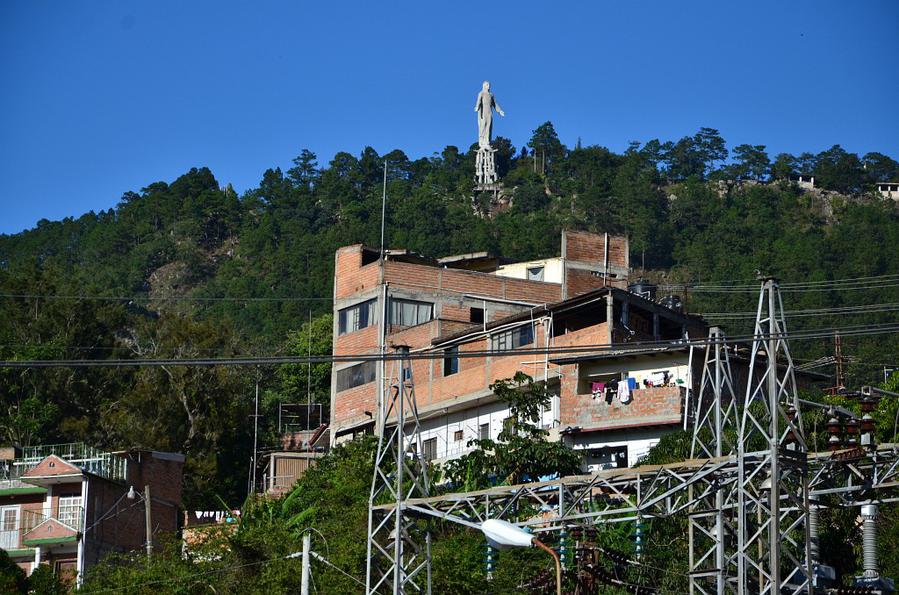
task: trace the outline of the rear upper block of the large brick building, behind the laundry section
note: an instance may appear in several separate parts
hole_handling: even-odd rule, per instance
[[[334,355],[378,354],[394,345],[429,349],[439,337],[486,331],[547,303],[626,287],[628,243],[608,234],[563,232],[558,258],[516,264],[483,253],[435,260],[389,250],[382,258],[377,250],[356,245],[337,251],[334,270]],[[462,390],[447,382],[445,388],[423,391],[426,379],[440,378],[436,366],[416,363],[422,405],[439,406]],[[385,373],[390,370],[374,361],[335,364],[333,442],[372,430],[376,387]]]

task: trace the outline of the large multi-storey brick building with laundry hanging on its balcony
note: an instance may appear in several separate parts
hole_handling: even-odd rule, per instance
[[[496,439],[509,410],[489,385],[522,371],[547,383],[554,397],[542,425],[584,450],[586,468],[632,465],[683,424],[698,372],[680,341],[708,327],[678,300],[656,302],[653,287],[628,291],[627,252],[626,238],[582,232],[563,234],[561,256],[524,263],[484,253],[431,260],[388,251],[381,259],[363,246],[341,248],[334,354],[405,345],[442,355],[412,362],[428,459]],[[640,349],[645,341],[669,345]],[[572,353],[534,353],[547,346]],[[390,373],[374,361],[334,366],[333,441],[373,431],[377,387]]]

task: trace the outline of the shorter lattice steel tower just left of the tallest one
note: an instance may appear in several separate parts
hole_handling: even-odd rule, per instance
[[[726,339],[718,327],[709,329],[694,419],[691,459],[716,458],[735,452],[739,427],[737,401]],[[727,536],[735,533],[733,516],[725,510],[731,493],[725,493],[728,487],[725,483],[727,480],[721,477],[708,485],[689,487],[693,502],[688,529],[691,594],[725,593],[728,554],[732,559],[734,553],[726,549]]]

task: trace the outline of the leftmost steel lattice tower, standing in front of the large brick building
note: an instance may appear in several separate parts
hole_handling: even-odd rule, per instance
[[[400,358],[394,361],[389,394],[375,425],[380,432],[368,505],[365,592],[430,594],[431,535],[426,521],[406,511],[407,500],[429,495],[428,468],[409,348],[396,350]]]

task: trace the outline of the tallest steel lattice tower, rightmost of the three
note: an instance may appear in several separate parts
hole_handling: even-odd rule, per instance
[[[776,279],[759,294],[737,448],[738,593],[812,593],[808,448]]]

